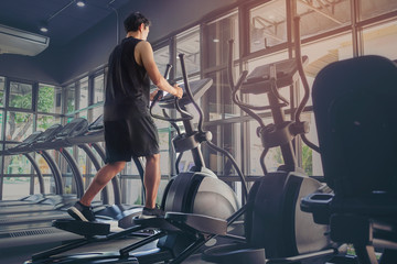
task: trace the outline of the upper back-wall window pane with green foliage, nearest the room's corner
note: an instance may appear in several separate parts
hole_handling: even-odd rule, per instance
[[[37,111],[62,113],[62,89],[50,85],[39,85]]]

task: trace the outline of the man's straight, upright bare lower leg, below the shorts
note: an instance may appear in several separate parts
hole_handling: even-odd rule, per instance
[[[160,154],[146,157],[143,185],[146,189],[144,207],[154,208],[160,185]]]

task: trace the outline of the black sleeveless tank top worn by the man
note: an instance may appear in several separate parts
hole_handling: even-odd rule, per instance
[[[109,56],[105,88],[104,121],[125,120],[148,114],[150,80],[135,59],[141,40],[127,37]]]

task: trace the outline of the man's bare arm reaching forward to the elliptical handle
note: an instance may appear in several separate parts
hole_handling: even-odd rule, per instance
[[[140,62],[142,63],[142,66],[148,72],[148,75],[150,79],[153,81],[153,84],[161,90],[167,91],[173,96],[176,96],[181,98],[183,96],[183,90],[179,86],[172,87],[165,78],[160,74],[159,68],[155,65],[154,56],[153,56],[153,50],[149,42],[142,41],[140,42],[137,47],[138,55],[140,57]]]

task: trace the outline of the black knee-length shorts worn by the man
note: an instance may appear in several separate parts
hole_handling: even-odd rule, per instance
[[[159,153],[159,134],[150,116],[105,122],[106,161],[131,161],[131,157]]]

